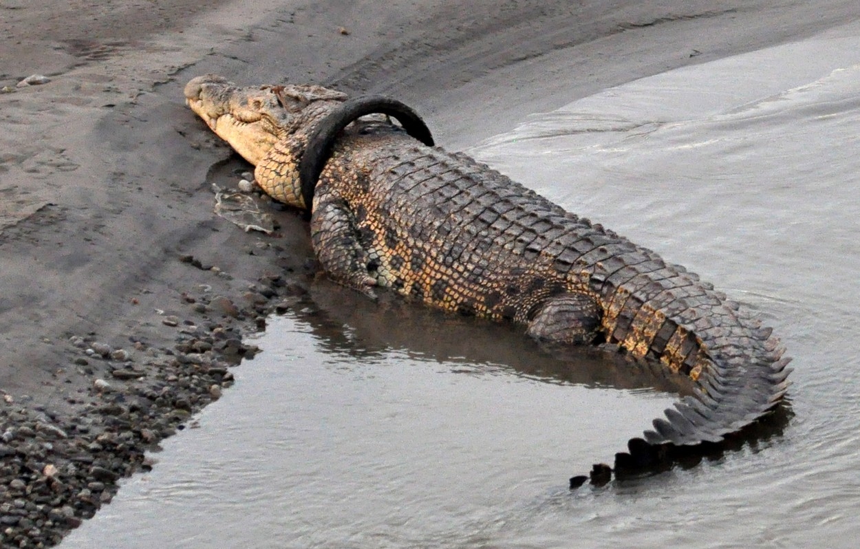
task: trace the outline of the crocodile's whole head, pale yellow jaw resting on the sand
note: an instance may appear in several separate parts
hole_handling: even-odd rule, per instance
[[[188,107],[255,166],[275,143],[295,132],[311,102],[346,98],[315,85],[240,87],[214,74],[195,77],[185,86]]]

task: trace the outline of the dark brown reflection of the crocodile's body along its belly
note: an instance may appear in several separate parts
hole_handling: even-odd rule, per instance
[[[329,355],[362,361],[402,351],[414,360],[460,363],[458,371],[517,373],[547,383],[690,394],[692,383],[654,361],[592,347],[540,346],[510,324],[445,314],[379,292],[377,304],[347,288],[318,281],[313,306],[298,318],[310,324]]]

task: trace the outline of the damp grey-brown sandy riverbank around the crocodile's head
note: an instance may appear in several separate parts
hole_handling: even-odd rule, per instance
[[[235,1],[34,4],[0,0],[0,88],[10,87],[0,94],[0,482],[18,475],[35,486],[0,484],[0,503],[35,501],[42,490],[52,494],[44,504],[69,507],[74,517],[55,513],[40,535],[9,519],[0,540],[15,546],[51,543],[50,533],[109,501],[90,487],[95,501],[80,503],[92,472],[64,479],[64,444],[95,454],[88,436],[125,429],[133,433],[126,447],[102,465],[120,475],[137,469],[145,443],[217,398],[210,384],[229,385],[220,368],[246,352],[235,340],[316,273],[296,213],[276,213],[280,229],[271,237],[212,214],[212,180],[243,164],[233,157],[219,167],[230,150],[185,107],[189,78],[218,72],[241,83],[286,79],[389,94],[425,115],[437,143],[457,150],[600,89],[860,16],[856,0],[513,0],[468,9],[431,0],[267,0],[253,12]],[[15,87],[34,73],[51,81]],[[86,355],[94,342],[129,351],[130,361]],[[217,373],[191,380],[188,364]],[[142,377],[120,379],[127,371]],[[111,389],[95,389],[96,379]],[[183,386],[155,402],[177,379]],[[116,411],[107,404],[124,419],[105,423]],[[19,429],[27,422],[37,435]],[[82,422],[100,427],[73,435]],[[33,453],[34,441],[56,448]],[[45,472],[55,463],[56,479]],[[111,475],[96,476],[113,493]]]

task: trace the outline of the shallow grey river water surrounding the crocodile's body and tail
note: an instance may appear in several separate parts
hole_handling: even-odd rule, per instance
[[[855,546],[857,30],[608,89],[470,151],[758,310],[795,357],[786,422],[568,492],[684,388],[320,282],[63,546]]]

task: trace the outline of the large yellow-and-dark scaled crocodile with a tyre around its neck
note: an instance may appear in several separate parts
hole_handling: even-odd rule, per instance
[[[614,472],[719,443],[777,408],[789,358],[746,306],[654,251],[569,213],[461,152],[380,96],[195,77],[187,105],[274,200],[304,210],[322,268],[550,344],[599,344],[687,376],[691,394],[631,438]],[[371,117],[366,114],[381,113]],[[363,118],[362,118],[363,117]],[[393,120],[401,122],[397,125]],[[600,464],[593,484],[613,468]],[[570,479],[571,488],[589,477]]]

